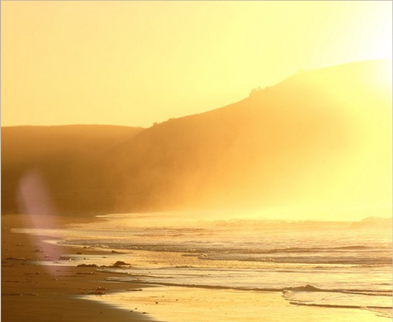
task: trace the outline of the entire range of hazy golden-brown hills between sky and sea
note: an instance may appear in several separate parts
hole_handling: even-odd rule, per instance
[[[302,72],[206,113],[97,131],[80,147],[84,128],[64,141],[49,128],[2,129],[2,213],[37,164],[59,212],[389,203],[391,71],[365,61]]]

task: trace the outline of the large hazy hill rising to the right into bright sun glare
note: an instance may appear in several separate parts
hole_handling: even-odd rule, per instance
[[[392,193],[391,61],[299,73],[112,153],[121,211],[379,203]]]

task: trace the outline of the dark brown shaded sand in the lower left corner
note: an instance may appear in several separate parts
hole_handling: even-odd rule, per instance
[[[1,216],[1,321],[151,321],[142,312],[76,298],[76,295],[100,292],[101,289],[101,292],[116,292],[140,288],[140,285],[105,282],[107,275],[95,268],[56,266],[49,270],[46,266],[36,265],[37,260],[48,256],[41,249],[42,245],[28,234],[10,231],[26,228],[25,220],[26,215]],[[59,224],[81,220],[88,219],[62,217]],[[49,247],[53,254],[65,251],[61,245],[51,244]],[[71,251],[77,252],[75,249]],[[84,251],[94,253],[94,250]],[[69,253],[70,248],[66,252]]]

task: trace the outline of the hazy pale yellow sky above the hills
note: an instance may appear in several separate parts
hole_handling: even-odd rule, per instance
[[[149,127],[392,58],[392,1],[1,1],[1,126]]]

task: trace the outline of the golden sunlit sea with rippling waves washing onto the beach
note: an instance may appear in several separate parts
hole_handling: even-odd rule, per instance
[[[391,222],[105,215],[95,224],[45,234],[68,245],[107,249],[109,256],[69,255],[43,264],[96,264],[113,273],[109,281],[153,284],[180,293],[271,293],[293,306],[366,310],[386,320],[392,319]],[[116,261],[130,265],[113,267]],[[135,294],[116,295],[112,302],[117,298],[120,306],[133,309]],[[191,315],[184,321],[199,319]]]

